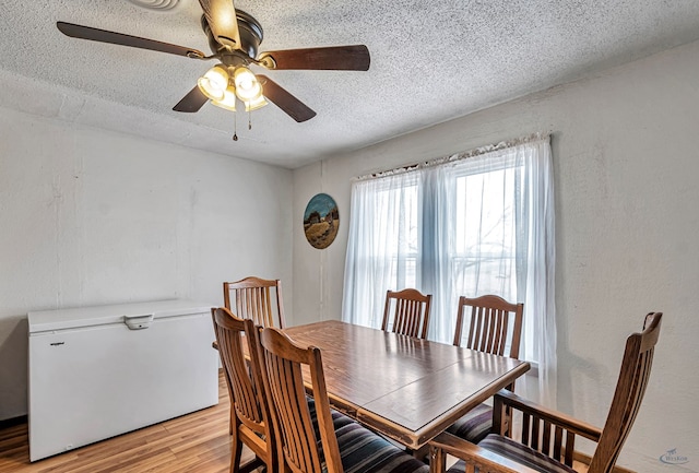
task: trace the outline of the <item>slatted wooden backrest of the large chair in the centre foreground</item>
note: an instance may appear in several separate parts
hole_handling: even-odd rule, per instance
[[[287,471],[294,473],[315,473],[322,471],[324,460],[328,473],[342,473],[320,350],[298,346],[273,328],[262,331],[260,342],[264,390],[280,441],[280,464],[286,464]],[[301,366],[308,367],[311,377],[322,457],[306,400]]]

